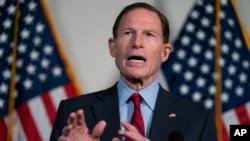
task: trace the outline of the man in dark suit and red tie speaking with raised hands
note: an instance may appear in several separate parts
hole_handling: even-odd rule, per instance
[[[50,140],[166,141],[177,136],[186,141],[216,141],[213,114],[157,82],[161,63],[172,49],[168,39],[167,18],[156,8],[146,3],[125,7],[108,40],[120,79],[106,90],[63,100]],[[142,97],[140,108],[134,108],[133,93]],[[142,113],[137,125],[132,123],[134,109]]]

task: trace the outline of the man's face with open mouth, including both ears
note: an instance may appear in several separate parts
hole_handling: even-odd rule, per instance
[[[126,80],[154,80],[168,58],[170,44],[163,43],[158,15],[143,8],[123,15],[117,38],[109,39],[111,56]]]

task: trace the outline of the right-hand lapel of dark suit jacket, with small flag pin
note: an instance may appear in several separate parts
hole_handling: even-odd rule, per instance
[[[168,135],[173,130],[178,116],[174,106],[175,101],[171,94],[160,87],[149,131],[151,140],[168,140]]]

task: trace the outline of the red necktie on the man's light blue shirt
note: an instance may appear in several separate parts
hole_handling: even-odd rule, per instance
[[[144,122],[143,122],[143,118],[142,118],[142,114],[141,114],[141,109],[140,109],[140,103],[141,103],[141,95],[138,93],[134,93],[130,99],[133,101],[134,103],[134,112],[132,115],[132,119],[131,119],[131,124],[133,126],[135,126],[135,128],[137,129],[137,131],[144,136]],[[131,141],[130,139],[126,139],[126,141]]]

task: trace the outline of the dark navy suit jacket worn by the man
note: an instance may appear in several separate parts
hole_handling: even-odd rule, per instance
[[[100,120],[107,126],[101,141],[118,137],[120,129],[117,86],[61,101],[50,141],[56,141],[71,112],[84,109],[85,121],[90,131]],[[151,141],[168,141],[171,132],[177,131],[185,141],[217,141],[214,116],[211,112],[159,89],[148,138]],[[172,115],[172,116],[171,116]]]

